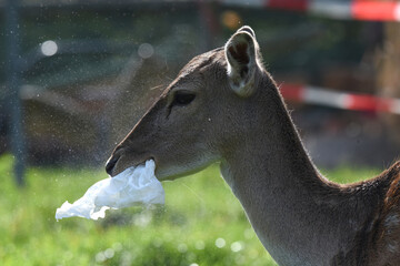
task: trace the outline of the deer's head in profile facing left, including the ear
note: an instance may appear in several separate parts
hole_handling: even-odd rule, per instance
[[[222,160],[248,131],[263,75],[250,27],[224,48],[193,58],[117,145],[106,170],[117,175],[153,158],[156,176],[173,180]]]

